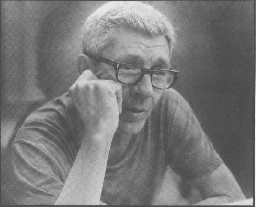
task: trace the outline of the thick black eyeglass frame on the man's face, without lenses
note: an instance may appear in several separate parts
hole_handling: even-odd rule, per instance
[[[173,68],[169,68],[169,69],[161,69],[161,70],[151,70],[151,69],[147,69],[147,68],[143,68],[141,66],[138,66],[138,65],[132,65],[132,64],[128,64],[128,63],[120,63],[120,62],[117,62],[117,61],[114,61],[114,60],[110,60],[110,59],[107,59],[107,58],[104,58],[104,57],[100,57],[100,56],[97,56],[97,55],[93,55],[89,52],[83,52],[84,55],[87,55],[88,57],[91,57],[91,58],[94,58],[96,61],[100,61],[102,63],[106,63],[108,65],[111,65],[114,67],[115,69],[115,76],[117,78],[117,81],[118,82],[121,82],[123,84],[126,84],[126,85],[135,85],[137,84],[139,81],[141,81],[141,79],[143,78],[143,76],[145,74],[149,74],[151,76],[151,84],[154,88],[157,88],[157,89],[162,89],[162,88],[159,88],[159,87],[156,87],[153,85],[152,83],[152,76],[154,74],[154,72],[157,72],[157,71],[170,71],[172,73],[174,73],[174,78],[173,78],[173,81],[172,81],[172,84],[170,84],[169,87],[167,87],[166,89],[169,89],[170,87],[172,87],[173,83],[178,79],[178,77],[180,76],[180,71],[177,71],[177,70],[173,70]],[[134,66],[136,68],[139,68],[141,70],[141,75],[139,77],[139,79],[134,82],[133,84],[128,84],[128,83],[125,83],[125,82],[122,82],[118,79],[118,71],[120,69],[120,66],[121,65],[130,65],[130,66]],[[80,72],[81,73],[81,72]]]

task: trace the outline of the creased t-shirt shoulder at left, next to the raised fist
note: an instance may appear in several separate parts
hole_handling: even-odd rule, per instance
[[[59,142],[72,135],[75,120],[75,107],[68,94],[64,94],[28,115],[9,145],[15,141],[37,142],[50,139]]]

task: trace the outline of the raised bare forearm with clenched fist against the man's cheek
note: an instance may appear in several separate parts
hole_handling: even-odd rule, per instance
[[[84,123],[84,137],[55,205],[99,205],[113,134],[122,104],[121,85],[84,71],[70,96]]]

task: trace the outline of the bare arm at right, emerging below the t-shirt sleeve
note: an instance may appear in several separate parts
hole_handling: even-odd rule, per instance
[[[199,189],[203,201],[194,205],[221,205],[245,199],[241,188],[227,166],[222,163],[214,171],[191,184]]]

